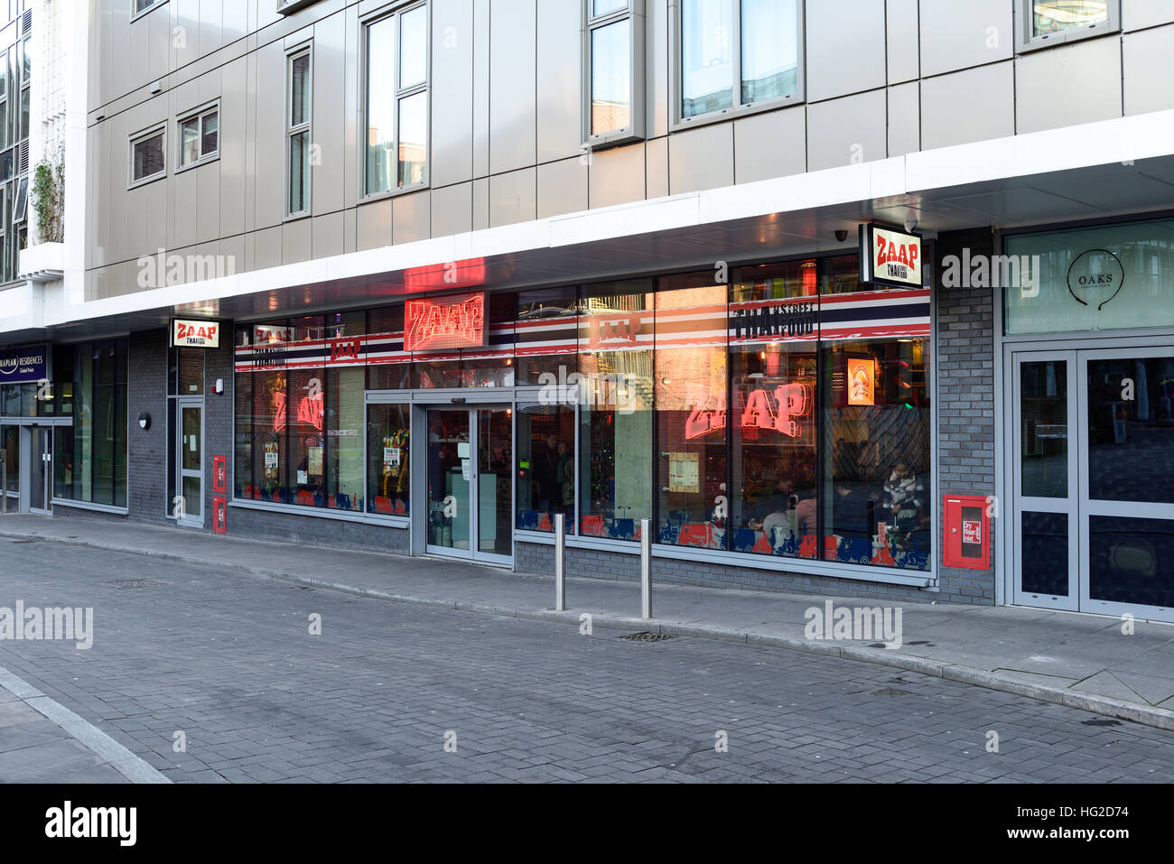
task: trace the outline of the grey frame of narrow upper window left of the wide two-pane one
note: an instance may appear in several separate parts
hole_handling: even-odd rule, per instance
[[[626,0],[626,2],[627,5],[623,8],[615,9],[602,15],[592,14],[593,0],[582,0],[581,2],[582,18],[580,20],[580,29],[582,43],[580,47],[581,109],[579,116],[579,137],[582,149],[585,150],[601,149],[632,141],[642,141],[647,137],[645,133],[647,113],[645,96],[647,89],[647,63],[645,60],[645,25],[647,19],[645,15],[645,0]],[[632,27],[628,32],[628,81],[630,86],[628,102],[632,106],[632,122],[619,129],[594,134],[591,130],[593,70],[592,35],[595,31],[603,29],[605,27],[619,23],[620,21],[632,22]]]

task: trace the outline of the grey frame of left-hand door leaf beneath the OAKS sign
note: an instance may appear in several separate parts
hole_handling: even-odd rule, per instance
[[[1062,360],[1067,364],[1067,427],[1068,427],[1068,494],[1065,498],[1025,497],[1023,494],[1023,366],[1025,363]],[[1007,466],[1011,477],[1011,526],[1007,532],[1011,539],[1012,567],[1012,603],[1045,609],[1064,609],[1078,612],[1080,605],[1080,585],[1073,562],[1079,559],[1079,492],[1080,464],[1078,447],[1073,437],[1081,437],[1077,404],[1077,352],[1075,351],[1012,351],[1011,353],[1011,424],[1010,452]],[[1023,589],[1023,514],[1057,513],[1068,517],[1068,593],[1066,596],[1039,594]]]

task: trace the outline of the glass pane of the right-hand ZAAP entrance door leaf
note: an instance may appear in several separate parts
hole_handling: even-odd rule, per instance
[[[477,412],[477,548],[493,555],[508,555],[512,548],[512,409]],[[565,464],[573,465],[569,451]]]

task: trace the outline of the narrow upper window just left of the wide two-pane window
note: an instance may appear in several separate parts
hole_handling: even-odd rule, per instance
[[[643,0],[583,0],[587,146],[643,136]]]

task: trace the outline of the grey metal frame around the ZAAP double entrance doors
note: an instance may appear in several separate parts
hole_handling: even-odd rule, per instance
[[[431,411],[461,411],[466,410],[468,414],[470,424],[470,453],[472,459],[473,475],[470,482],[470,501],[479,500],[480,491],[478,488],[478,474],[477,471],[477,458],[478,458],[478,424],[477,414],[478,410],[508,410],[510,413],[510,439],[511,439],[511,468],[510,477],[513,480],[513,465],[515,458],[515,445],[517,445],[517,406],[514,390],[501,387],[485,387],[485,389],[471,389],[471,390],[436,390],[436,391],[413,391],[411,392],[412,401],[412,430],[411,436],[416,446],[412,447],[411,452],[411,470],[412,470],[412,485],[411,485],[411,501],[412,501],[412,514],[411,514],[411,526],[412,526],[412,539],[411,539],[411,551],[413,555],[439,555],[443,558],[456,558],[464,561],[477,561],[480,563],[490,563],[502,567],[513,567],[514,565],[514,548],[515,548],[515,527],[518,524],[517,517],[517,494],[514,484],[511,482],[510,493],[510,554],[508,555],[497,555],[487,552],[480,552],[475,548],[477,539],[479,538],[480,526],[478,525],[478,518],[480,513],[478,507],[471,506],[471,519],[470,519],[470,548],[466,549],[451,549],[441,546],[433,546],[429,542],[429,508],[426,506],[427,501],[427,412]]]

